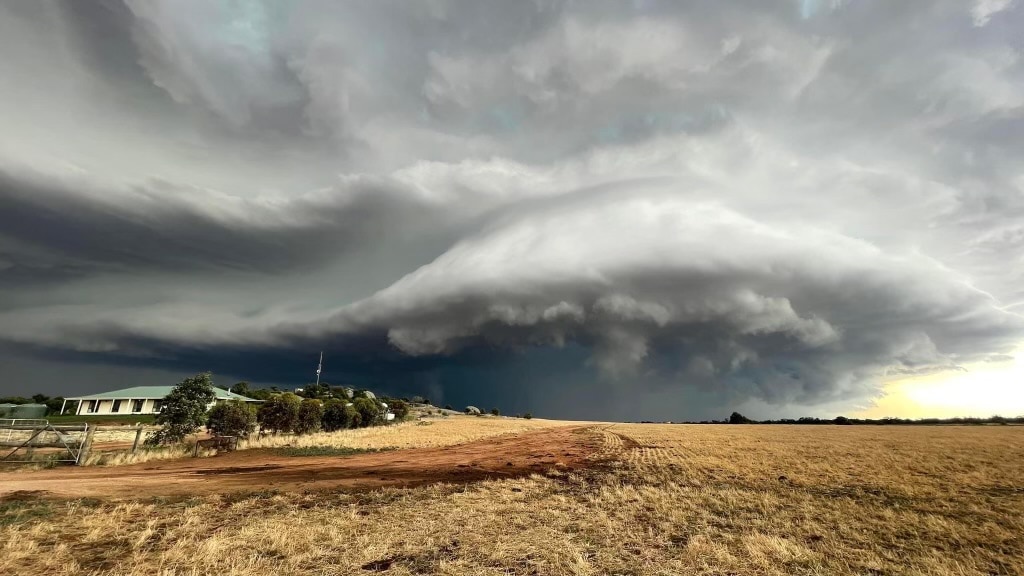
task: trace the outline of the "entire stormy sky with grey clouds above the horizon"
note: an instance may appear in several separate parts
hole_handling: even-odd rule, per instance
[[[0,395],[1024,414],[1015,0],[0,3]]]

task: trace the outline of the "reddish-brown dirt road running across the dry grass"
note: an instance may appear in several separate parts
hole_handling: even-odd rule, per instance
[[[67,498],[145,498],[259,490],[359,490],[510,478],[552,467],[579,468],[600,446],[586,426],[488,438],[444,448],[353,456],[288,456],[242,450],[209,458],[112,467],[60,467],[0,474],[0,497],[32,492]]]

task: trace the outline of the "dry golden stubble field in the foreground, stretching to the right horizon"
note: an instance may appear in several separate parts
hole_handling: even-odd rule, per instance
[[[479,430],[460,426],[476,420],[394,434],[468,438]],[[521,423],[486,425],[503,421]],[[571,433],[589,449],[582,465],[503,479],[268,491],[254,477],[250,491],[202,497],[8,494],[0,574],[1024,574],[1024,427]]]

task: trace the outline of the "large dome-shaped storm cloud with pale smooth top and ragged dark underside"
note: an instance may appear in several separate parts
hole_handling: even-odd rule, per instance
[[[465,240],[325,329],[366,326],[413,355],[572,340],[613,376],[668,362],[807,403],[851,393],[853,366],[869,386],[1010,349],[1024,319],[925,257],[633,190]]]

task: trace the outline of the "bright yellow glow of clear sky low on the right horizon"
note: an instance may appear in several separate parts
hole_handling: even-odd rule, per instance
[[[966,366],[886,382],[885,396],[860,411],[862,418],[952,418],[1024,415],[1024,354],[1008,362]]]

